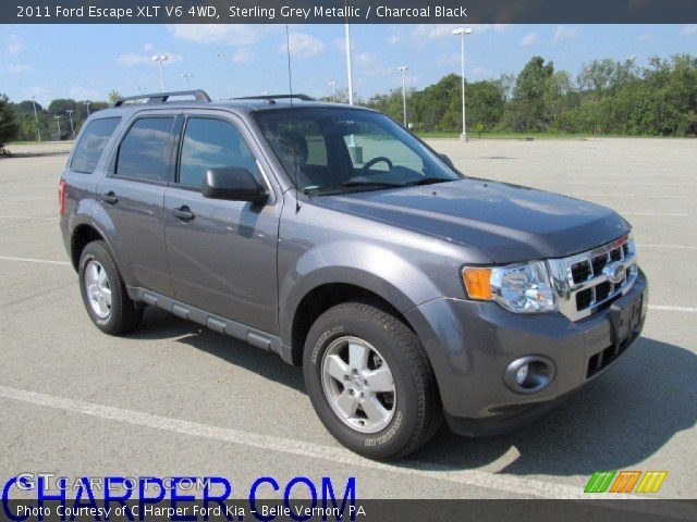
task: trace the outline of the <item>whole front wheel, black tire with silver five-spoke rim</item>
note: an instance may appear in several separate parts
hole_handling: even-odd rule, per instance
[[[352,350],[364,353],[362,344],[369,350],[368,369],[355,374],[358,356],[352,363]],[[380,383],[376,380],[379,371],[383,377],[387,375],[384,365],[392,377],[393,393],[374,391],[390,387],[384,378]],[[350,376],[342,377],[344,372]],[[343,446],[364,457],[405,457],[427,443],[442,423],[436,377],[420,340],[379,304],[345,302],[322,313],[307,335],[303,373],[309,398],[327,430]],[[363,387],[360,375],[370,375],[370,380],[363,381]],[[360,402],[355,407],[357,395]],[[376,408],[376,399],[382,409]],[[353,417],[346,413],[354,408]],[[375,422],[383,411],[388,414]]]

